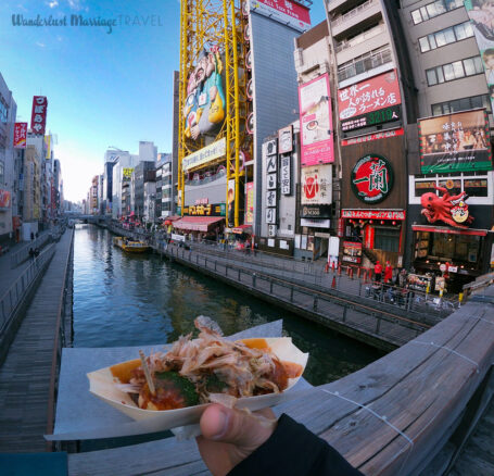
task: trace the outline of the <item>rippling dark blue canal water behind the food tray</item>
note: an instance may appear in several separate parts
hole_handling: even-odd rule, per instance
[[[74,347],[172,342],[193,330],[200,314],[215,320],[225,335],[282,318],[286,335],[311,354],[304,376],[313,385],[341,378],[382,355],[156,254],[127,254],[113,246],[105,229],[76,225]]]

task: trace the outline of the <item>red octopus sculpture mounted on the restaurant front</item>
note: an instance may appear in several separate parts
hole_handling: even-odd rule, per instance
[[[463,191],[459,195],[455,195],[449,197],[449,192],[444,187],[434,186],[436,190],[442,191],[444,195],[442,197],[438,197],[435,193],[428,192],[423,193],[420,198],[420,202],[422,204],[422,215],[426,215],[426,218],[429,223],[434,223],[438,220],[446,223],[447,225],[454,226],[456,228],[467,228],[466,225],[461,225],[458,222],[453,220],[452,209],[457,206],[461,199],[467,195]],[[468,215],[468,205],[464,203],[460,206],[460,212],[467,215],[464,220],[465,223],[473,222],[473,216]]]

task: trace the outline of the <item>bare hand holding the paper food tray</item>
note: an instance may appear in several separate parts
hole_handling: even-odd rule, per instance
[[[210,405],[202,414],[202,436],[197,441],[199,452],[213,475],[225,476],[261,447],[275,431],[274,418],[270,409],[249,414],[216,403]]]

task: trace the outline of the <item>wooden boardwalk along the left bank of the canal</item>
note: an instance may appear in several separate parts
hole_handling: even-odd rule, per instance
[[[53,342],[73,230],[55,254],[0,368],[0,452],[46,451]]]

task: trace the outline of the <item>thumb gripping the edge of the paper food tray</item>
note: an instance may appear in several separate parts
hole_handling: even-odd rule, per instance
[[[273,415],[270,411],[269,414]],[[254,451],[271,436],[276,423],[215,403],[202,414],[201,431],[206,439]]]

